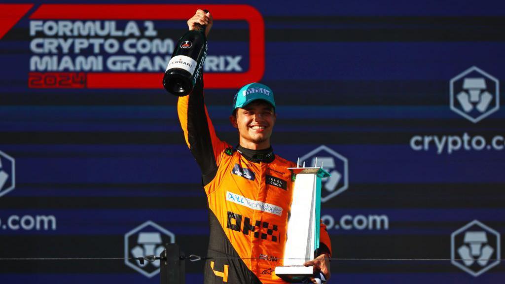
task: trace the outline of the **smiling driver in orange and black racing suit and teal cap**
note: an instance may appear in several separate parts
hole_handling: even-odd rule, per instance
[[[212,27],[202,10],[188,20]],[[210,241],[205,283],[284,283],[274,273],[282,265],[287,220],[296,165],[273,153],[270,136],[277,115],[274,94],[263,84],[243,86],[235,95],[230,122],[238,129],[239,145],[221,141],[204,104],[203,79],[177,103],[189,150],[202,172],[209,205]],[[320,255],[314,266],[330,277],[331,245],[321,224]],[[319,272],[317,273],[319,274]],[[315,281],[314,279],[312,279]]]

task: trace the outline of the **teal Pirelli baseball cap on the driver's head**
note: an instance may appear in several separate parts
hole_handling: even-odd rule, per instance
[[[232,112],[242,108],[252,101],[263,100],[270,103],[275,109],[274,92],[267,85],[250,83],[241,87],[233,98]]]

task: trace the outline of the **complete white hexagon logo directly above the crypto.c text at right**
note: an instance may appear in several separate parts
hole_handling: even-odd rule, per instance
[[[476,66],[450,79],[450,109],[477,123],[500,108],[499,81]]]

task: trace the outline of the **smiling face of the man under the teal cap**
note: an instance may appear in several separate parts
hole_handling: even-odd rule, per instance
[[[233,127],[238,129],[241,140],[257,145],[267,143],[270,146],[276,117],[272,105],[257,100],[238,108],[236,115],[230,116],[230,121]]]

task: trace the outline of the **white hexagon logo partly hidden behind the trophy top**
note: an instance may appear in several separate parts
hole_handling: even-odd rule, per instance
[[[306,167],[312,167],[317,163],[323,164],[323,168],[331,176],[322,179],[321,201],[326,202],[331,198],[341,194],[349,186],[349,174],[347,158],[336,151],[321,145],[311,152],[300,157],[300,165],[306,163]]]

